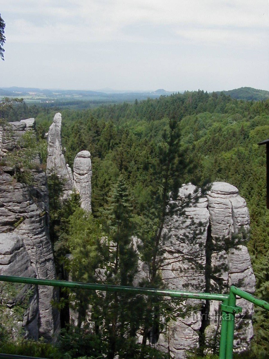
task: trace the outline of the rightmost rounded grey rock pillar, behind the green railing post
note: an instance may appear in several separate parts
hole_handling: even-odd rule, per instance
[[[220,238],[230,238],[240,230],[249,230],[249,211],[246,201],[239,195],[235,186],[223,182],[214,182],[207,194],[208,211],[211,223],[212,241]],[[251,267],[250,256],[245,246],[239,245],[231,248],[228,252],[213,255],[214,266],[226,267],[221,274],[214,275],[216,280],[211,279],[214,290],[217,290],[220,280],[222,286],[235,285],[246,292],[255,292],[255,276]],[[242,307],[242,313],[236,315],[235,320],[235,347],[237,351],[247,349],[253,336],[251,317],[253,304],[244,299],[237,300],[237,305]],[[217,329],[217,317],[214,315],[216,303],[211,305],[209,315],[214,318],[207,328],[208,334]]]

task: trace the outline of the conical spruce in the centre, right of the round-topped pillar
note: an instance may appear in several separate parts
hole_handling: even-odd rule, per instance
[[[104,246],[107,253],[106,283],[132,286],[137,271],[137,255],[132,247],[134,231],[132,212],[126,179],[120,175],[109,204],[103,212],[104,227],[109,235],[109,243]],[[115,353],[123,350],[127,338],[134,337],[136,334],[137,328],[133,328],[134,322],[131,321],[130,324],[131,317],[135,315],[132,310],[136,302],[137,298],[117,292],[107,292],[103,298],[108,359],[113,359]]]

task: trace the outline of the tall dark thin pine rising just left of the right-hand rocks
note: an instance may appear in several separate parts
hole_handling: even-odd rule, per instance
[[[169,234],[165,233],[167,218],[176,215],[183,217],[185,208],[198,200],[202,192],[188,196],[184,202],[179,203],[178,191],[183,184],[186,174],[191,171],[191,166],[184,158],[184,152],[180,145],[179,124],[176,120],[169,120],[168,127],[162,134],[162,141],[157,148],[157,161],[155,177],[157,188],[152,193],[152,200],[147,213],[144,215],[144,223],[139,234],[142,240],[142,260],[148,265],[149,278],[147,285],[151,288],[162,288],[160,275],[161,265],[164,261],[163,248],[169,241]],[[196,198],[194,198],[196,197]],[[160,316],[167,307],[161,304],[160,298],[149,297],[147,299],[146,312],[143,324],[142,344],[145,346],[148,336],[152,343],[157,341]]]

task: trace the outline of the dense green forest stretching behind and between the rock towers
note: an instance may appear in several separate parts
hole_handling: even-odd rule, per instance
[[[268,99],[244,101],[225,93],[199,90],[84,110],[28,107],[23,102],[3,106],[2,121],[36,118],[44,168],[45,134],[58,111],[62,113],[67,163],[72,167],[76,153],[88,150],[93,166],[93,213],[86,216],[75,193],[70,200],[61,201],[63,184],[53,175],[48,179],[50,234],[61,279],[63,267],[67,266],[66,255],[71,253],[75,265],[69,270],[73,280],[94,281],[93,273],[101,267],[108,284],[132,285],[138,259],[130,252],[128,241],[136,235],[143,242],[141,253],[152,271],[151,283],[145,285],[160,287],[156,256],[161,255],[158,245],[164,218],[172,210],[167,208],[171,194],[176,196],[183,183],[206,188],[210,182],[225,181],[236,186],[247,202],[251,219],[247,246],[256,276],[255,294],[269,301],[266,155],[265,146],[258,145],[269,137]],[[96,242],[101,237],[117,244],[113,253],[116,268],[109,267],[110,254],[104,243]],[[127,260],[130,257],[132,260]],[[77,326],[72,328],[66,325],[69,301],[78,312]],[[114,307],[109,307],[111,302]],[[138,326],[142,325],[146,333],[148,327],[155,325],[154,318],[146,317],[148,308],[159,306],[159,313],[173,317],[173,303],[164,301],[159,305],[152,299],[119,294],[100,295],[97,301],[94,294],[86,298],[85,293],[77,291],[71,300],[69,293],[61,293],[57,305],[62,310],[65,333],[59,350],[70,353],[70,358],[85,356],[87,345],[91,346],[93,358],[100,358],[102,353],[107,353],[107,358],[114,358],[116,353],[119,358],[166,357],[153,349],[144,348],[142,353],[132,340],[132,333]],[[96,323],[95,338],[87,336],[82,325],[89,305]],[[105,318],[105,329],[98,336],[100,318]],[[116,320],[121,323],[117,328],[113,327]],[[240,358],[266,358],[268,312],[255,309],[254,330],[251,352]],[[123,336],[126,332],[130,334],[128,340]],[[143,337],[143,342],[146,339]]]

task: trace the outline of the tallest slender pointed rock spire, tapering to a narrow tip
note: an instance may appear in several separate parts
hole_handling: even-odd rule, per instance
[[[71,168],[66,164],[65,156],[63,155],[61,127],[62,115],[58,112],[48,130],[47,175],[57,174],[64,181],[65,197],[68,197],[73,188],[73,176]]]

